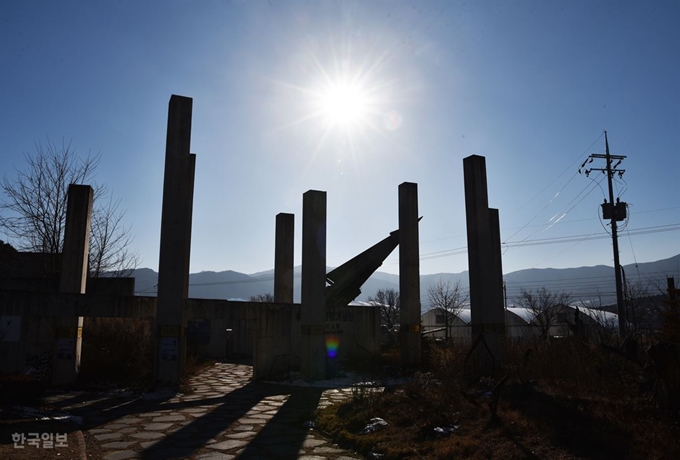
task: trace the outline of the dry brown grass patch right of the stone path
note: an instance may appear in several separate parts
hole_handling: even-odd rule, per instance
[[[678,419],[655,407],[644,369],[585,339],[505,344],[497,375],[472,377],[462,348],[424,347],[427,372],[318,413],[341,445],[391,459],[680,458]],[[531,351],[529,351],[531,350]],[[491,389],[498,390],[492,417]],[[360,435],[381,417],[389,426]],[[437,435],[436,427],[457,427]]]

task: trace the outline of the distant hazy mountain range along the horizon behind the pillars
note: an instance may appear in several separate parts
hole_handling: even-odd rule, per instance
[[[300,270],[295,267],[294,301],[300,301]],[[330,267],[329,267],[330,270]],[[650,289],[650,294],[658,294],[666,289],[666,278],[675,277],[680,282],[680,254],[669,259],[656,262],[630,264],[624,266],[629,283],[643,283]],[[136,279],[137,295],[156,295],[158,273],[149,268],[140,268],[132,275]],[[513,304],[521,289],[535,290],[545,287],[551,291],[570,292],[575,303],[587,302],[596,305],[613,303],[616,300],[614,268],[605,265],[579,268],[532,268],[506,273],[508,303]],[[451,286],[460,282],[463,289],[468,289],[468,272],[437,273],[421,275],[420,292],[423,309],[427,309],[427,292],[430,286],[439,279],[450,280]],[[375,272],[361,288],[357,300],[368,300],[379,289],[399,289],[399,276],[385,272]],[[273,293],[274,270],[253,274],[239,273],[232,270],[222,272],[200,272],[189,276],[189,297],[202,299],[244,299],[257,294]]]

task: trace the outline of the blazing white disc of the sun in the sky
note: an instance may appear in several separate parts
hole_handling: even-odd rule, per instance
[[[369,100],[359,85],[333,83],[319,95],[323,116],[334,125],[356,125],[369,112]]]

